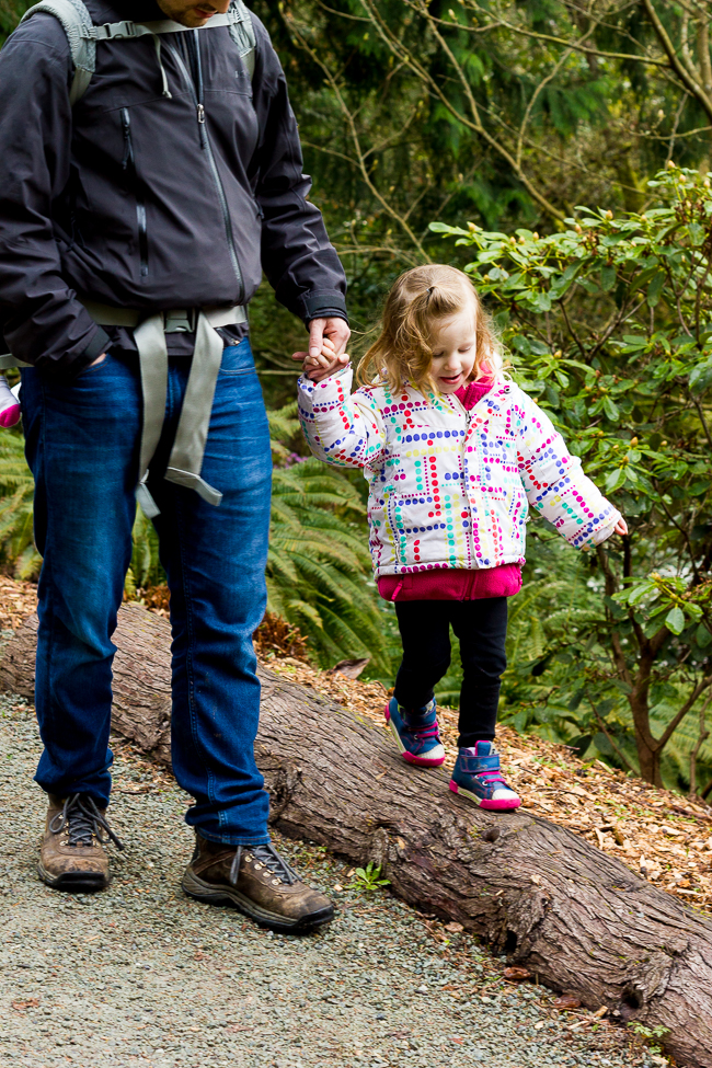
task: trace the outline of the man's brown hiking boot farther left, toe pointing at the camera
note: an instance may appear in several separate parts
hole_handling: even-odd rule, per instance
[[[82,894],[104,889],[110,881],[104,846],[111,838],[118,849],[124,848],[106,823],[105,809],[97,808],[87,794],[48,797],[37,864],[39,877],[55,889]]]

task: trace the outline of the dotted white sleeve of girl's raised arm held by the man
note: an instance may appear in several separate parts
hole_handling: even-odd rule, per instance
[[[323,382],[299,379],[299,421],[309,448],[337,467],[377,463],[386,451],[386,428],[370,390],[352,395],[351,367]]]

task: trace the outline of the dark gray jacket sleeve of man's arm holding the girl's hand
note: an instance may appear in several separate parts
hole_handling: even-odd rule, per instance
[[[260,142],[252,170],[262,213],[262,263],[285,305],[305,322],[346,315],[346,279],[319,208],[307,199],[297,119],[267,31],[252,15],[257,38],[253,101]]]

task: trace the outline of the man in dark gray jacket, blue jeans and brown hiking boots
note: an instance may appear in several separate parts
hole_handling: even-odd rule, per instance
[[[79,100],[54,14],[0,53],[0,328],[25,365],[44,558],[38,870],[58,889],[108,883],[112,634],[138,496],[171,588],[173,769],[195,799],[184,889],[309,930],[333,909],[271,845],[254,762],[271,453],[245,308],[264,269],[310,353],[325,336],[343,353],[345,280],[269,37],[229,2],[87,0]]]

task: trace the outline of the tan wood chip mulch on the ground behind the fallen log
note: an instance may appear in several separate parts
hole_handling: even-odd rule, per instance
[[[0,575],[0,631],[15,630],[35,607],[36,586]],[[320,671],[301,657],[267,655],[266,663],[383,726],[388,691],[382,684]],[[440,709],[439,722],[449,770],[457,753],[457,712]],[[656,790],[601,761],[584,765],[565,746],[520,737],[508,727],[499,728],[497,747],[505,774],[527,809],[582,835],[687,905],[712,912],[710,806]]]

